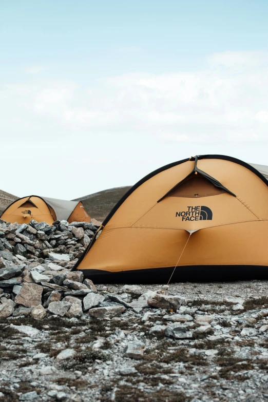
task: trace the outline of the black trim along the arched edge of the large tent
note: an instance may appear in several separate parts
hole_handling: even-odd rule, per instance
[[[230,162],[234,162],[237,163],[238,165],[244,166],[247,169],[251,170],[253,173],[255,173],[256,176],[258,176],[268,187],[268,180],[265,179],[265,177],[257,170],[255,169],[255,167],[249,165],[246,162],[241,161],[240,159],[236,159],[233,157],[228,157],[226,155],[198,155],[195,157],[190,157],[187,159],[182,159],[181,161],[178,162],[173,162],[173,163],[169,163],[168,165],[162,166],[154,171],[152,171],[151,173],[149,173],[147,176],[145,176],[143,179],[139,180],[136,184],[134,184],[127,192],[126,194],[118,201],[118,203],[116,205],[114,205],[114,207],[111,209],[111,212],[107,215],[107,217],[104,219],[102,226],[105,226],[109,220],[111,219],[111,217],[117,212],[118,208],[123,204],[123,202],[144,182],[146,182],[147,180],[151,179],[152,177],[158,175],[159,173],[161,173],[164,170],[167,170],[171,167],[180,165],[181,163],[187,162],[187,161],[195,161],[195,166],[197,164],[197,160],[199,159],[222,159],[225,161],[230,161]],[[214,179],[215,180],[215,179]],[[230,193],[228,191],[228,193]],[[233,193],[231,193],[233,196],[235,196]],[[4,213],[3,213],[4,214]],[[1,217],[0,217],[1,218]],[[73,269],[76,269],[77,266],[79,265],[79,263],[83,260],[83,258],[87,255],[88,251],[90,250],[90,248],[92,247],[92,245],[94,244],[95,239],[90,242],[88,244],[88,246],[86,247],[86,250],[84,251],[84,253],[82,254],[82,256],[80,257],[80,259],[78,260],[78,262],[75,263],[75,265],[73,266]]]

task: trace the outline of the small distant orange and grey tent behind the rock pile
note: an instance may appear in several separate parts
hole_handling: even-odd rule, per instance
[[[45,221],[52,225],[56,220],[90,222],[91,218],[81,201],[66,201],[55,198],[28,196],[10,204],[0,217],[6,222],[29,223]]]

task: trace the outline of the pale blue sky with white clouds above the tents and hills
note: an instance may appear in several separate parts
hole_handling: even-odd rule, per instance
[[[266,0],[0,0],[0,188],[74,199],[194,155],[268,165]]]

